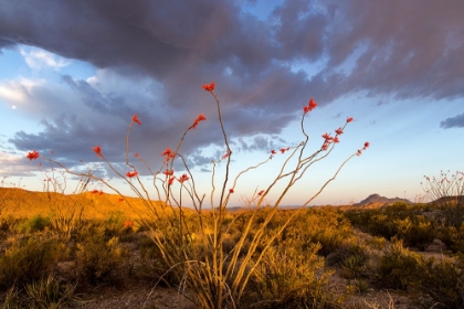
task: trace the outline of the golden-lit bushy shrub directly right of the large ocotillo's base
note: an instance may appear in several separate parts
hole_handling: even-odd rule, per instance
[[[271,247],[253,275],[244,307],[324,308],[336,303],[328,287],[333,271],[323,270],[324,258],[317,255],[319,248],[320,245],[313,244],[300,251],[281,243]]]

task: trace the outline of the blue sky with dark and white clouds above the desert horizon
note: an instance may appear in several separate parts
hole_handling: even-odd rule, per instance
[[[312,204],[373,193],[414,201],[423,175],[464,170],[463,15],[461,0],[1,0],[2,185],[43,190],[51,167],[25,158],[36,150],[74,171],[96,169],[131,194],[93,147],[128,171],[126,132],[137,114],[129,157],[149,187],[151,173],[131,154],[160,170],[162,151],[203,114],[179,152],[208,195],[211,161],[226,150],[215,102],[201,87],[214,82],[232,178],[304,140],[303,106],[314,97],[318,106],[304,121],[308,154],[321,135],[354,121],[283,204],[306,202],[366,141]],[[240,178],[231,204],[266,189],[288,156]],[[218,164],[218,187],[224,168]],[[176,162],[176,174],[182,169]],[[74,181],[66,178],[67,191]]]

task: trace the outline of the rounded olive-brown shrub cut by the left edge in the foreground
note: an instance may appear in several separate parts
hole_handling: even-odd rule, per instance
[[[0,257],[0,286],[35,281],[51,274],[65,254],[64,245],[53,238],[19,241]]]

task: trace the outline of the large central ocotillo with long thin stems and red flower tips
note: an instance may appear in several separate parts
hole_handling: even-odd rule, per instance
[[[275,238],[282,234],[298,212],[304,210],[305,206],[320,194],[329,182],[335,180],[341,168],[351,158],[360,156],[369,147],[369,142],[366,142],[361,149],[342,161],[335,174],[313,196],[308,196],[299,210],[294,211],[288,220],[277,230],[274,230],[276,232],[270,234],[266,227],[276,215],[284,196],[286,196],[295,183],[303,179],[314,163],[321,161],[331,153],[339,142],[346,126],[352,121],[352,117],[347,118],[345,124],[335,130],[334,136],[324,134],[320,147],[313,153],[307,154],[306,150],[309,145],[309,136],[305,130],[304,121],[306,115],[317,107],[317,103],[312,98],[303,107],[300,120],[303,140],[297,146],[271,150],[262,162],[234,174],[231,160],[234,152],[222,120],[220,100],[214,93],[215,84],[205,84],[202,87],[215,100],[220,130],[225,146],[225,152],[222,158],[212,162],[211,192],[209,192],[209,199],[207,199],[205,193],[202,194],[197,189],[194,174],[189,168],[186,157],[181,153],[181,147],[187,135],[196,129],[201,121],[207,120],[202,114],[184,130],[176,148],[167,148],[161,153],[165,160],[158,170],[151,170],[138,152],[135,154],[138,160],[145,163],[148,172],[152,175],[152,184],[157,195],[156,200],[159,201],[158,203],[152,201],[149,191],[140,180],[140,171],[129,160],[129,136],[131,129],[136,124],[141,125],[137,115],[133,116],[126,136],[125,154],[128,171],[119,171],[106,159],[104,150],[99,146],[95,146],[93,150],[117,177],[126,181],[127,185],[130,187],[134,193],[140,198],[146,207],[152,213],[152,220],[146,221],[146,224],[151,230],[151,238],[162,256],[166,274],[170,274],[170,277],[173,275],[177,278],[178,285],[182,287],[181,290],[184,291],[186,297],[189,297],[202,308],[235,308],[246,291],[253,271],[260,265]],[[228,213],[231,194],[234,194],[235,188],[243,175],[251,170],[259,169],[268,163],[274,156],[287,156],[287,158],[282,167],[276,170],[274,180],[271,181],[271,184],[266,189],[250,192],[250,198],[246,199],[246,206],[252,213],[244,222],[240,238],[232,248],[228,246],[226,249],[224,239],[228,237],[234,220],[239,217],[230,216]],[[27,157],[33,160],[41,156],[34,150],[29,152]],[[97,178],[94,174],[81,174],[67,169],[60,162],[44,157],[42,159],[61,167],[68,173],[81,177],[85,175],[99,181],[108,189],[120,194],[116,188],[102,178]],[[180,175],[177,175],[177,172],[173,170],[176,160],[183,164],[183,169],[186,170]],[[224,177],[220,181],[218,181],[215,173],[219,162],[224,162],[222,164]],[[220,183],[219,185],[218,182]],[[272,192],[276,194],[277,199],[274,203],[266,204],[266,196]],[[188,201],[186,201],[186,196]],[[124,202],[129,203],[126,200]],[[186,205],[189,205],[189,207],[186,207]],[[257,213],[263,207],[267,209],[265,217],[264,220],[261,219],[257,221]]]

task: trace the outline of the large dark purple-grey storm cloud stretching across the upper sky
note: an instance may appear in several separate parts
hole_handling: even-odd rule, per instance
[[[120,159],[120,128],[137,113],[144,125],[134,148],[158,156],[205,113],[201,134],[182,145],[193,153],[192,163],[203,164],[210,158],[194,149],[223,142],[214,100],[202,83],[217,82],[231,137],[242,138],[244,150],[263,151],[268,141],[250,143],[246,137],[280,134],[309,97],[326,105],[358,92],[399,99],[464,96],[464,1],[293,0],[266,20],[242,11],[240,6],[252,2],[3,0],[0,49],[33,45],[154,82],[150,97],[135,104],[139,98],[124,89],[104,92],[63,75],[86,114],[43,116],[43,131],[18,132],[11,142],[23,150],[62,147],[76,159],[80,149],[104,141],[107,153]]]

